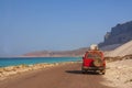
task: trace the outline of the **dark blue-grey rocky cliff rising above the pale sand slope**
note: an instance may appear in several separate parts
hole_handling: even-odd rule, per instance
[[[105,42],[100,43],[99,46],[107,46],[113,44],[124,44],[132,40],[132,21],[117,24],[111,29],[111,32],[107,32],[105,35]]]

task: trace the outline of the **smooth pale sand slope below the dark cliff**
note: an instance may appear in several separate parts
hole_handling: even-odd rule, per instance
[[[132,54],[132,41],[119,46],[114,51],[106,53],[106,56],[116,57],[116,56],[125,56]]]

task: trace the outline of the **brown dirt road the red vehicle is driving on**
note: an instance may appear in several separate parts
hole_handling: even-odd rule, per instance
[[[109,88],[101,75],[81,74],[80,64],[67,64],[26,73],[0,81],[0,88]]]

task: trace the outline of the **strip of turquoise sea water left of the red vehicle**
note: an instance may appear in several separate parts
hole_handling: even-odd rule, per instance
[[[63,62],[77,62],[81,57],[14,57],[14,58],[0,58],[0,67],[15,66],[15,65],[32,65],[40,63],[63,63]]]

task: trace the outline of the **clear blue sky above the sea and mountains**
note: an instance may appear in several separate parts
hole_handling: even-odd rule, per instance
[[[68,51],[132,20],[132,0],[0,0],[0,56]]]

